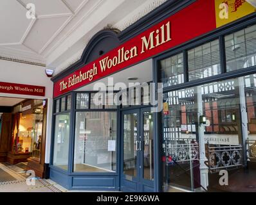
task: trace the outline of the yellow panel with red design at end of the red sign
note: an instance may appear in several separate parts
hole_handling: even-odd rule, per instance
[[[255,0],[215,0],[216,27],[219,28],[253,12],[256,12]]]

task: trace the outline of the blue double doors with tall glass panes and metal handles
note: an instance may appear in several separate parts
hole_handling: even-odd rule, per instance
[[[121,190],[154,191],[154,133],[150,108],[122,111]]]

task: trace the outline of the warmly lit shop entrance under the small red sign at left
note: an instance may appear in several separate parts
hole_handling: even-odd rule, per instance
[[[36,176],[43,177],[46,103],[41,99],[0,97],[2,176],[10,176],[10,168],[19,173],[34,170]],[[4,180],[12,181],[12,177],[0,176],[0,183]]]

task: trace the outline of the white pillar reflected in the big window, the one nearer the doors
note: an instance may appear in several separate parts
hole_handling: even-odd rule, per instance
[[[208,161],[205,156],[205,140],[204,140],[204,126],[200,123],[200,116],[203,115],[203,99],[201,86],[196,87],[197,95],[197,122],[198,122],[198,140],[199,140],[199,152],[200,152],[200,184],[207,190],[208,186],[208,167],[205,165],[205,161]],[[201,188],[201,190],[204,190]]]

